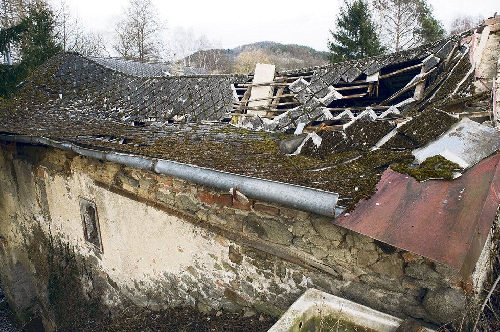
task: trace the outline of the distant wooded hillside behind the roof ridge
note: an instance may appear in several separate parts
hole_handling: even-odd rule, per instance
[[[272,63],[276,70],[324,65],[328,63],[328,52],[302,45],[261,41],[233,49],[198,51],[189,60],[191,65],[204,67],[211,73],[248,73],[253,71],[255,63]]]

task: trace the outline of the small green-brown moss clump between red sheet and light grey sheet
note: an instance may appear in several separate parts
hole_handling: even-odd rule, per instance
[[[391,168],[399,173],[406,173],[418,181],[452,179],[453,171],[462,170],[458,164],[440,155],[425,159],[417,168],[412,168],[410,164],[405,163],[393,165]]]

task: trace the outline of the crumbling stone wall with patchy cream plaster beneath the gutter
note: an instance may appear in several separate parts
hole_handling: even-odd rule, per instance
[[[313,287],[440,324],[461,317],[472,292],[458,271],[331,218],[43,147],[3,144],[0,164],[9,184],[0,236],[15,248],[1,264],[29,261],[39,225],[92,266],[111,308],[131,301],[279,316]],[[79,196],[96,203],[103,252],[83,239]]]

